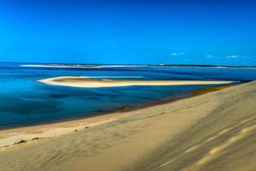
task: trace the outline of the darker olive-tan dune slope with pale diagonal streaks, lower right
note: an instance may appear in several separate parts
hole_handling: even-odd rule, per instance
[[[256,83],[216,95],[209,115],[134,170],[256,170]]]

